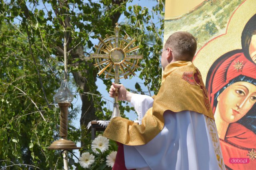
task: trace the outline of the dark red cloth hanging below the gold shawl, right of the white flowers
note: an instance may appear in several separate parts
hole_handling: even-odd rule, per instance
[[[124,145],[119,142],[117,142],[117,144],[118,149],[116,154],[116,160],[112,170],[127,170],[124,162]]]

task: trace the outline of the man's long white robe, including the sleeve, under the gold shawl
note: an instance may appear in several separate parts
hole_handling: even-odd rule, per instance
[[[146,95],[132,95],[140,121],[153,101]],[[147,144],[124,145],[124,159],[127,169],[137,170],[225,169],[214,121],[193,111],[166,111],[162,131]]]

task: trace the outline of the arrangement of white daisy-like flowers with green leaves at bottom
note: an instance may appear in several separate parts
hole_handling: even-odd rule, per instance
[[[74,163],[76,170],[111,170],[117,153],[116,142],[98,135],[92,141],[91,148],[82,153],[78,163]]]

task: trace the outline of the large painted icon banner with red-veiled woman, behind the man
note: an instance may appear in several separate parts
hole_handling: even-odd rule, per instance
[[[177,31],[197,39],[193,63],[206,84],[226,168],[254,169],[256,1],[166,0],[165,11],[164,43]]]

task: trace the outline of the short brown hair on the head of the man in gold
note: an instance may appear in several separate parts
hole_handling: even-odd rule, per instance
[[[188,32],[175,32],[167,39],[164,48],[171,48],[176,60],[192,61],[196,53],[196,38]]]

